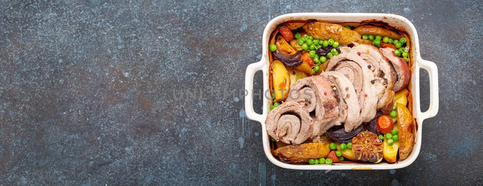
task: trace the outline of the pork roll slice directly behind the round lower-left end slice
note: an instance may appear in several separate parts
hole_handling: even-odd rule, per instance
[[[295,101],[308,111],[315,111],[314,122],[312,125],[311,138],[315,138],[324,134],[328,128],[329,121],[336,119],[339,114],[339,107],[334,91],[330,87],[330,82],[324,76],[317,75],[300,79],[290,87],[287,101]],[[300,97],[294,97],[292,94],[295,90],[299,90]],[[312,92],[306,94],[306,92]],[[312,96],[312,98],[310,98]],[[313,110],[312,110],[313,108]]]

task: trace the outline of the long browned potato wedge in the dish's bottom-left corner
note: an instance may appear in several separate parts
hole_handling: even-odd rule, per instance
[[[329,152],[328,143],[304,143],[275,149],[273,155],[290,163],[306,163],[310,159],[326,157]]]

